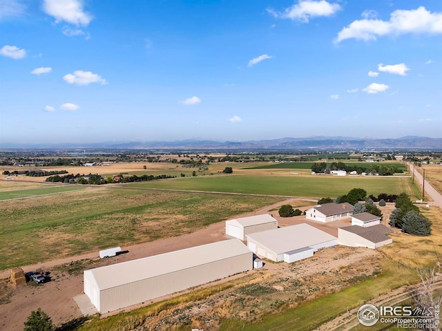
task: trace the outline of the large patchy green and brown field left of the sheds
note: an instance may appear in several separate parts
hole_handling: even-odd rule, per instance
[[[84,188],[0,203],[0,270],[192,232],[280,201]]]

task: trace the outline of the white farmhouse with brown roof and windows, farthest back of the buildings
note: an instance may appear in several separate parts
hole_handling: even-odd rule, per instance
[[[352,217],[353,205],[345,203],[324,203],[323,205],[316,205],[305,212],[305,218],[312,221],[329,223]]]

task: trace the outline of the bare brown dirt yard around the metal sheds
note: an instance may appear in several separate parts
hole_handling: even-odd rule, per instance
[[[289,201],[282,201],[280,203],[276,203],[275,205],[270,205],[260,210],[256,210],[255,212],[247,215],[238,215],[238,217],[269,212],[269,210],[278,208],[280,205],[285,203],[297,205],[297,203],[299,204],[301,202],[298,199],[290,199]],[[302,201],[302,203],[305,203],[305,201]],[[305,207],[305,209],[307,209],[307,207]],[[278,219],[281,226],[302,223],[305,221],[305,219],[302,217],[283,219],[278,216],[277,211],[269,213],[273,214],[273,217]],[[326,230],[331,234],[337,234],[337,223],[332,227],[318,224],[316,222],[308,223],[311,223],[321,230]],[[183,234],[180,237],[160,239],[129,247],[123,247],[123,250],[128,250],[128,253],[121,254],[117,257],[112,257],[111,259],[100,260],[97,257],[96,252],[68,259],[40,263],[38,265],[28,265],[23,267],[25,272],[36,270],[37,268],[50,270],[52,281],[42,285],[28,283],[27,285],[17,289],[0,287],[0,298],[10,297],[9,299],[5,299],[3,301],[8,303],[1,304],[2,301],[0,301],[0,329],[22,330],[23,322],[29,316],[30,312],[32,310],[37,310],[37,308],[43,309],[49,314],[50,317],[52,317],[54,323],[57,324],[81,317],[81,312],[79,308],[77,308],[75,301],[73,301],[73,297],[75,297],[77,294],[81,294],[83,291],[83,277],[81,273],[83,269],[95,268],[99,265],[119,263],[132,259],[139,259],[141,257],[148,257],[155,254],[162,254],[164,252],[171,252],[173,250],[180,250],[195,245],[203,245],[205,243],[212,243],[214,241],[225,239],[228,238],[224,234],[224,222],[219,222],[197,232]],[[336,259],[334,254],[342,254],[343,250],[345,251],[345,254],[343,254],[341,257],[345,257],[345,259]],[[352,254],[352,252],[354,252],[354,254]],[[323,250],[318,252],[318,254],[311,259],[300,261],[299,263],[294,263],[292,265],[286,265],[285,263],[267,263],[265,268],[267,271],[265,272],[278,274],[278,276],[280,276],[284,272],[287,272],[287,270],[296,268],[296,272],[298,273],[299,277],[302,278],[318,272],[319,270],[324,270],[324,259],[328,259],[329,261],[327,262],[329,265],[327,269],[333,269],[338,268],[338,265],[351,264],[356,261],[360,261],[361,257],[376,254],[378,254],[378,252],[373,250],[353,250],[351,248]],[[319,256],[320,259],[318,259]],[[71,266],[70,263],[73,263],[73,265]],[[57,265],[61,267],[56,267]],[[69,274],[67,271],[69,268],[77,269],[77,272]],[[9,272],[10,270],[0,272],[0,279],[3,279],[3,284],[6,283],[6,278],[9,276]]]

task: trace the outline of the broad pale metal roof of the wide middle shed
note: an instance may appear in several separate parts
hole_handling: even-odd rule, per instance
[[[257,241],[276,254],[338,239],[306,223],[248,234],[247,238]]]

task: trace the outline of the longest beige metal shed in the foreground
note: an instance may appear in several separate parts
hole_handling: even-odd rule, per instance
[[[84,270],[84,293],[104,314],[253,269],[238,239]]]

